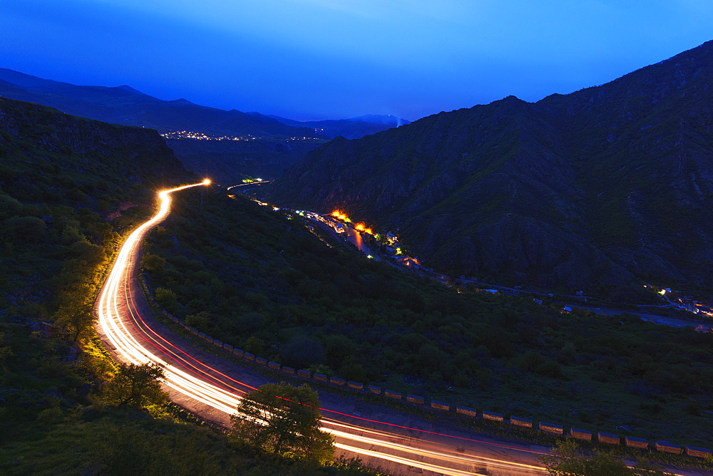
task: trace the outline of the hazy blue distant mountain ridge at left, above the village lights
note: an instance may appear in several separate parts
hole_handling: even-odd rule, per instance
[[[263,138],[326,137],[258,113],[207,108],[189,100],[160,100],[130,86],[75,86],[0,68],[0,95],[26,100],[83,118],[120,125]]]

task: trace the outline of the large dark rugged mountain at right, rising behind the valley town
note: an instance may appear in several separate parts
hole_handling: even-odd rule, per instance
[[[602,86],[514,96],[309,152],[272,200],[398,231],[426,264],[636,299],[713,289],[713,42]]]

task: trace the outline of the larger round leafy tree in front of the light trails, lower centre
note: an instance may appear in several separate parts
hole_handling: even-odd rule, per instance
[[[329,461],[332,435],[322,432],[319,398],[307,384],[267,383],[245,395],[230,417],[232,435],[272,452]]]

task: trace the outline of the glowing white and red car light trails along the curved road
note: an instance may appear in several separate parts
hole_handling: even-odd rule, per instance
[[[168,216],[171,204],[170,195],[180,190],[209,184],[210,180],[204,180],[192,185],[163,190],[158,194],[160,199],[158,212],[137,227],[122,245],[116,262],[114,262],[99,294],[96,314],[101,333],[123,361],[135,364],[156,363],[163,366],[166,386],[210,408],[215,408],[226,415],[232,415],[235,413],[240,395],[245,394],[246,390],[243,388],[254,390],[255,387],[237,381],[202,363],[190,353],[175,346],[165,336],[161,336],[145,322],[132,296],[132,286],[135,286],[133,276],[136,263],[139,260],[140,244],[150,229]],[[326,408],[321,410],[323,413],[331,413],[335,418],[356,419],[372,425],[386,425],[393,429],[393,431],[374,430],[334,420],[334,418],[321,420],[322,430],[334,435],[337,441],[335,445],[338,448],[359,455],[452,476],[483,474],[473,472],[473,465],[515,470],[516,474],[545,473],[543,467],[516,462],[513,460],[515,457],[506,460],[480,455],[465,455],[462,452],[448,450],[444,448],[447,445],[439,443],[438,439],[448,438],[458,445],[468,442],[489,445],[503,451],[517,450],[523,455],[534,452],[525,447],[419,430],[394,423],[369,420]],[[394,433],[406,430],[419,432],[422,437],[409,438],[403,434]],[[355,445],[365,445],[368,449]],[[394,452],[397,454],[394,455]],[[521,459],[519,456],[517,458]],[[428,459],[429,462],[424,462],[424,459]],[[531,457],[524,459],[532,460]],[[461,468],[450,466],[461,466]]]

